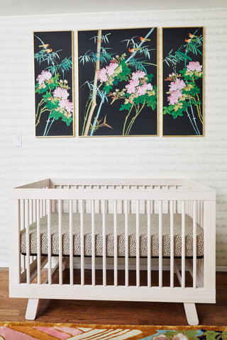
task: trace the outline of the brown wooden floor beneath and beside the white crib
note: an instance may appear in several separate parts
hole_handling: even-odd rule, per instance
[[[26,299],[9,298],[9,272],[0,268],[0,321],[24,322]],[[227,326],[227,272],[216,274],[216,304],[197,304],[199,324]],[[187,325],[182,303],[42,300],[36,322]]]

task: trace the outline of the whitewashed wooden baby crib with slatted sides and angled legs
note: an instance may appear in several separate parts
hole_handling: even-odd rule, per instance
[[[28,298],[26,319],[42,298],[130,300],[183,302],[188,323],[198,324],[195,303],[215,302],[211,188],[187,179],[45,179],[10,190],[10,215],[9,295]]]

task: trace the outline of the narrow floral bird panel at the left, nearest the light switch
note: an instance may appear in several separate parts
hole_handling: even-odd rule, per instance
[[[72,31],[34,32],[35,137],[73,137]]]

